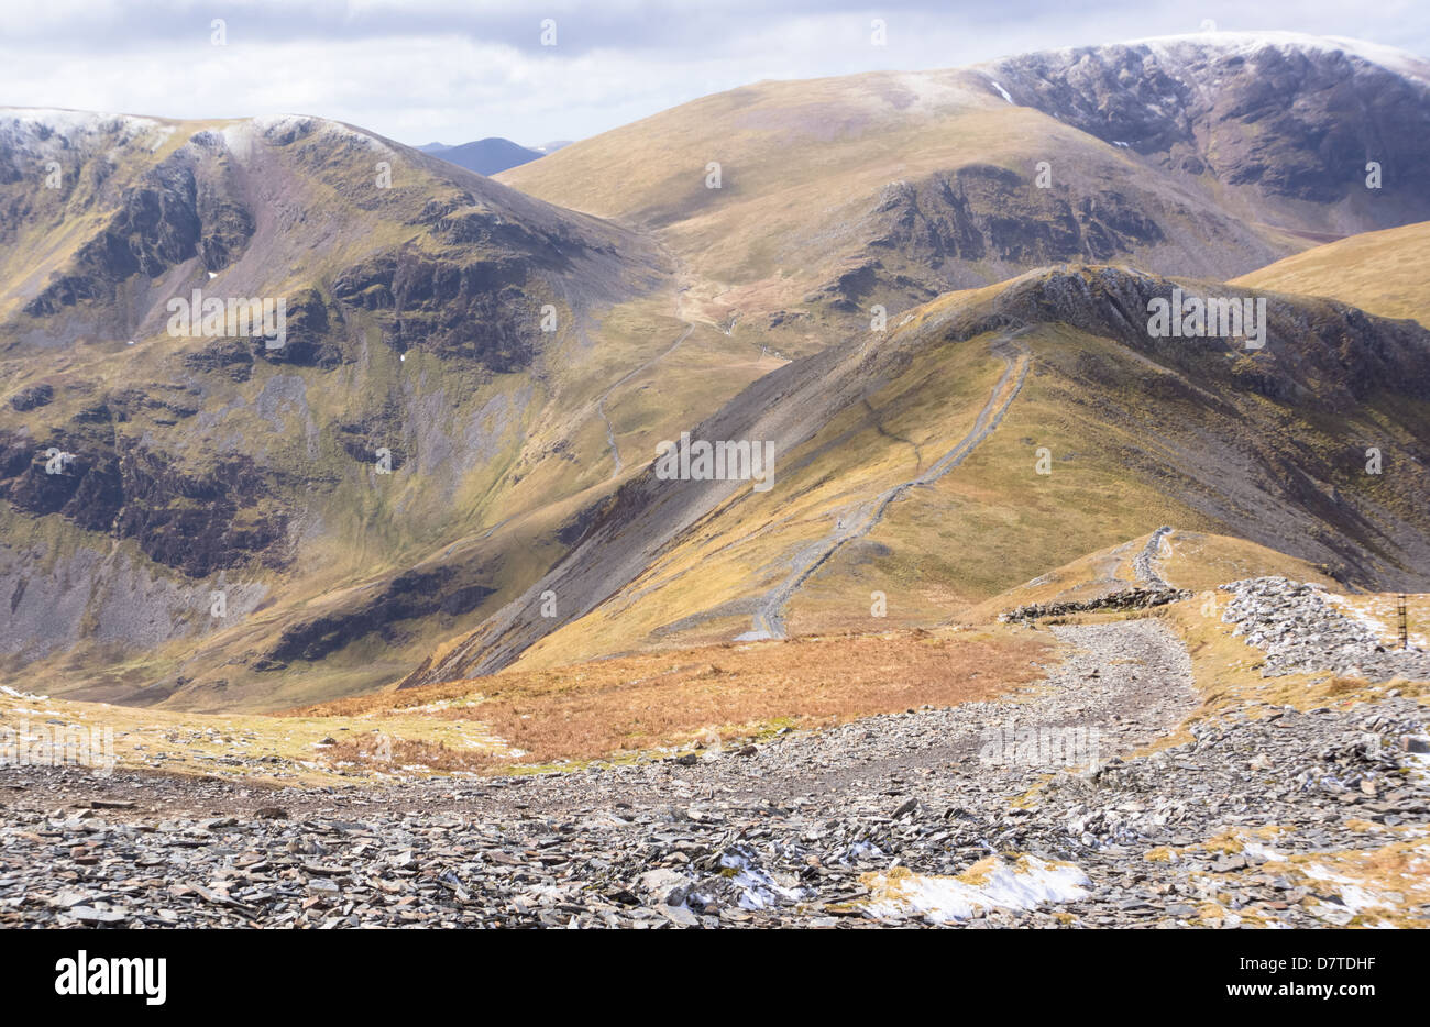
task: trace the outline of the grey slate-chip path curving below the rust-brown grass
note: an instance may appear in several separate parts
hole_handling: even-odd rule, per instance
[[[698,792],[731,801],[808,795],[838,804],[841,792],[871,781],[950,767],[994,780],[998,772],[982,767],[978,754],[990,734],[1000,729],[1095,731],[1097,751],[1088,758],[1105,760],[1165,735],[1193,709],[1190,661],[1160,622],[1072,625],[1055,628],[1054,634],[1065,647],[1065,661],[1018,694],[797,732],[761,745],[758,760],[722,754],[691,767],[655,762],[541,777],[432,778],[345,791],[269,790],[130,771],[96,778],[67,768],[3,768],[0,797],[9,788],[14,797],[43,797],[49,808],[99,798],[134,802],[136,810],[163,815],[242,815],[280,802],[293,817],[349,807],[502,817],[512,812],[513,802],[529,814],[586,815],[621,804],[659,807]]]

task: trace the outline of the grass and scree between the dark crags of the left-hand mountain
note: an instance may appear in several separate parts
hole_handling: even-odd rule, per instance
[[[46,266],[64,266],[113,213],[124,182],[139,180],[194,132],[235,126],[242,129],[243,123],[173,123],[176,132],[157,150],[149,149],[147,134],[117,149],[119,163],[103,197],[89,195],[82,176],[66,197],[67,206],[39,212],[19,245],[6,249],[4,259],[19,260],[27,250],[43,249]],[[163,295],[187,295],[192,288],[220,296],[316,289],[330,302],[337,275],[402,245],[468,262],[503,259],[503,253],[480,243],[453,252],[419,223],[429,202],[470,189],[475,176],[440,163],[433,169],[398,152],[393,187],[373,190],[375,157],[368,144],[342,132],[332,139],[327,136],[323,142],[282,146],[255,140],[243,160],[235,157],[249,173],[247,179],[239,177],[252,190],[246,199],[257,212],[249,252],[212,280],[190,262],[194,266],[179,267],[156,283]],[[479,203],[503,202],[499,187],[486,189],[498,190],[498,197],[479,197]],[[49,190],[39,190],[39,199],[57,202]],[[512,202],[531,203],[519,196]],[[49,232],[56,223],[64,230]],[[599,226],[592,230],[606,232]],[[645,257],[632,257],[633,273],[649,277],[638,263]],[[485,375],[462,360],[422,349],[399,360],[372,316],[356,309],[345,310],[345,323],[335,326],[356,359],[332,370],[259,360],[243,382],[222,373],[197,379],[184,359],[202,352],[207,340],[170,338],[162,319],[154,325],[157,330],[142,333],[133,346],[100,332],[47,352],[44,359],[17,353],[4,360],[6,395],[37,382],[56,386],[49,406],[24,413],[0,406],[3,426],[29,432],[41,446],[54,426],[70,422],[97,396],[140,388],[149,395],[177,395],[192,402],[172,383],[199,383],[200,416],[172,425],[163,423],[162,411],[139,408],[123,425],[113,426],[114,438],[143,436],[146,445],[169,455],[172,468],[197,473],[212,468],[216,453],[249,453],[260,466],[282,472],[269,475],[269,481],[283,482],[279,488],[300,511],[297,529],[303,532],[296,562],[286,571],[242,569],[227,575],[230,582],[260,582],[267,588],[263,605],[253,614],[210,624],[206,596],[213,582],[182,582],[202,586],[202,609],[184,616],[203,638],[127,654],[113,645],[82,642],[73,651],[14,669],[11,679],[21,687],[43,682],[47,691],[152,702],[182,677],[190,684],[167,702],[212,709],[287,707],[370,691],[402,677],[442,638],[478,622],[485,611],[539,576],[563,549],[558,529],[638,471],[658,439],[676,435],[689,419],[714,412],[725,398],[778,366],[774,358],[759,358],[759,346],[748,333],[736,340],[709,326],[698,326],[678,350],[666,353],[691,325],[674,285],[651,280],[656,288],[646,295],[581,312],[542,292],[538,282],[532,303],[555,302],[561,329],[543,340],[545,352],[529,373]],[[11,290],[7,309],[13,312],[23,299]],[[10,330],[31,326],[21,318]],[[289,393],[296,388],[299,399],[275,402],[280,386]],[[605,419],[598,411],[602,398]],[[390,476],[379,476],[343,452],[335,426],[370,421],[393,409],[402,412],[392,429],[395,438],[383,441],[400,451],[406,463]],[[621,448],[619,478],[606,421]],[[83,551],[107,554],[114,548],[113,539],[57,518],[34,522],[33,531],[27,526],[31,522],[20,516],[16,524],[26,538],[43,542],[51,566]],[[11,538],[19,541],[17,535]],[[122,542],[119,549],[149,574],[170,575],[133,544]],[[438,566],[452,554],[462,555],[459,574],[496,588],[465,619],[408,621],[320,664],[299,661],[282,674],[256,674],[245,665],[285,628],[319,615],[340,615],[393,574]],[[154,684],[159,688],[147,691]]]

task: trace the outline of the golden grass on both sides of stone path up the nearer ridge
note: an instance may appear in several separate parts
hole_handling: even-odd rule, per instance
[[[682,539],[621,595],[533,647],[518,665],[746,631],[751,615],[739,601],[778,584],[784,559],[822,538],[835,511],[915,476],[968,432],[1002,369],[985,342],[922,353],[869,396],[869,408],[845,412],[802,451],[782,453],[779,466],[797,466],[807,453],[818,453],[815,459],[782,472],[766,493],[742,493],[742,502]],[[1070,423],[1068,412],[1044,399],[1038,379],[1030,378],[1002,426],[961,468],[895,503],[864,541],[841,549],[805,584],[789,608],[791,634],[937,624],[1113,541],[1168,521],[1205,524],[1130,478],[1113,445],[1090,445],[1085,432],[1095,429],[1087,421]],[[1041,445],[1074,453],[1075,465],[1037,475]],[[887,595],[887,621],[871,615],[874,591]],[[701,616],[708,611],[715,615]],[[661,631],[686,616],[696,624],[674,638]]]

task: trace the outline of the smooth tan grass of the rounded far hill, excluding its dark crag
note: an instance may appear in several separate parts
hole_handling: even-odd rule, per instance
[[[498,179],[659,232],[688,266],[692,309],[711,322],[738,315],[748,326],[772,312],[799,312],[771,333],[784,353],[798,356],[852,323],[807,302],[811,289],[869,257],[888,275],[901,272],[897,253],[868,246],[868,219],[891,183],[992,164],[1027,179],[1035,193],[1035,164],[1050,154],[1060,183],[1165,189],[1164,199],[1175,195],[1163,210],[1168,235],[1200,237],[1187,183],[1160,183],[1128,150],[1012,107],[982,76],[957,70],[762,82],[573,143]],[[719,189],[705,185],[711,162],[721,164]],[[1283,252],[1304,245],[1276,237]],[[967,272],[987,282],[1011,273],[1004,265]]]

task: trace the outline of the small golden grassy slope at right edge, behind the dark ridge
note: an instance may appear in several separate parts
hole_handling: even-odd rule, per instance
[[[1430,325],[1430,222],[1364,232],[1233,279],[1248,289],[1328,296]]]

